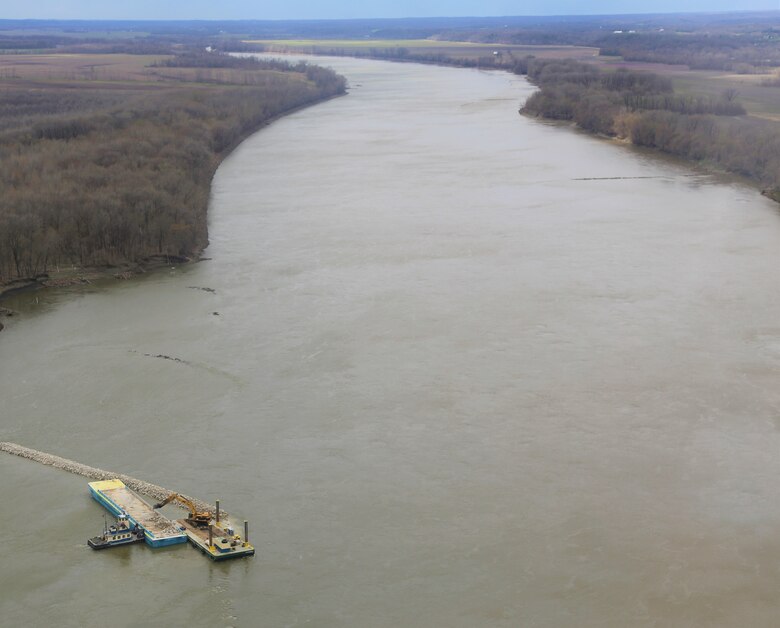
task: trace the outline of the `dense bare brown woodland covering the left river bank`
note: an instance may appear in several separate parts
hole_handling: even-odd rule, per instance
[[[273,69],[259,87],[0,90],[0,283],[197,254],[220,159],[274,116],[345,90],[331,70]]]

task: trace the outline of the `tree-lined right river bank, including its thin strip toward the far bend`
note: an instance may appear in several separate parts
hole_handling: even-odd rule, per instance
[[[296,46],[269,47],[282,54],[296,52]],[[298,47],[300,50],[300,45]],[[455,46],[436,51],[397,46],[319,50],[315,46],[307,52],[314,56],[332,54],[397,63],[504,70],[525,76],[539,92],[529,98],[530,107],[527,103],[521,107],[520,112],[524,115],[570,121],[596,137],[677,157],[714,174],[737,175],[748,180],[761,195],[780,203],[780,175],[772,165],[773,155],[780,153],[780,123],[744,115],[746,111],[737,99],[738,90],[731,83],[726,83],[728,89],[723,90],[720,98],[680,94],[675,91],[671,76],[647,69],[615,71],[588,57],[594,49],[571,47],[571,50],[577,54],[567,57],[565,47],[538,46],[526,47],[525,56],[520,56],[512,47],[498,45],[477,47],[468,56],[464,56],[464,49]],[[553,72],[545,73],[545,66]],[[563,68],[563,72],[558,72],[555,66]],[[557,79],[556,73],[564,77],[563,81]],[[608,90],[594,94],[590,87],[595,76],[607,77],[612,85]],[[620,93],[621,81],[629,89],[643,83],[664,85],[661,90],[664,104],[656,100],[650,104],[650,110],[644,108],[648,101],[642,105],[637,97],[641,99],[646,94],[632,93],[629,97]],[[561,89],[564,85],[565,90]],[[626,98],[632,101],[633,108],[624,105]],[[666,107],[672,110],[664,111]],[[729,121],[729,117],[734,119]]]

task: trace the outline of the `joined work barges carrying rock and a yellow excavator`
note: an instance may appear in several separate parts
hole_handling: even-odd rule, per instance
[[[195,504],[177,493],[150,506],[118,479],[90,482],[93,499],[117,517],[126,517],[143,530],[150,547],[165,547],[186,543],[188,540],[212,560],[227,560],[254,556],[255,548],[249,543],[249,528],[244,521],[244,537],[235,533],[228,521],[220,521],[219,502],[216,514],[197,510]],[[189,510],[189,517],[171,521],[157,509],[171,502],[178,502]]]

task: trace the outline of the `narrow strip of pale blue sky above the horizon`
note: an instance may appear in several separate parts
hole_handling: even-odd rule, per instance
[[[280,20],[780,10],[780,0],[0,0],[0,19]]]

